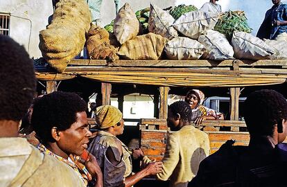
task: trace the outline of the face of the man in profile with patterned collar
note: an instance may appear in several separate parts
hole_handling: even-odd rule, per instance
[[[92,133],[88,130],[86,112],[76,113],[77,121],[67,130],[60,131],[58,147],[66,154],[81,155],[87,149],[89,137]]]

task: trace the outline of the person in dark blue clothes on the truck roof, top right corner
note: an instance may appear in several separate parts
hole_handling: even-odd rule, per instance
[[[278,35],[287,32],[287,5],[281,0],[272,0],[272,3],[274,5],[267,10],[256,35],[261,39],[276,39]]]

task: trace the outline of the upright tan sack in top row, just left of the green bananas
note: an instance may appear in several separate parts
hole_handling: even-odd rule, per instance
[[[114,35],[120,44],[137,37],[139,33],[139,20],[128,3],[119,10],[114,19]]]

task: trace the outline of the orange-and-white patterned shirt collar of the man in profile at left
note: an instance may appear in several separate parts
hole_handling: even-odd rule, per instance
[[[43,144],[39,143],[39,145],[37,145],[38,150],[40,150],[41,152],[44,152],[46,154],[51,155],[52,157],[54,157],[55,159],[58,159],[59,161],[62,161],[64,163],[67,163],[69,166],[71,166],[71,168],[73,168],[73,170],[75,170],[78,175],[80,176],[80,178],[82,179],[82,181],[84,181],[85,186],[87,186],[88,181],[92,180],[92,175],[89,174],[87,168],[85,168],[85,166],[76,161],[75,157],[73,155],[70,155],[68,159],[64,159],[63,157],[58,156],[57,154],[54,154],[53,152],[51,152],[50,150],[48,150]]]

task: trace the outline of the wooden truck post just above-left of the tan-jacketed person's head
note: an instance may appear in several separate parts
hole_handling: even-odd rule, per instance
[[[168,91],[169,87],[159,87],[159,96],[160,96],[160,104],[159,104],[159,118],[166,119],[167,118],[167,107],[168,107]]]

